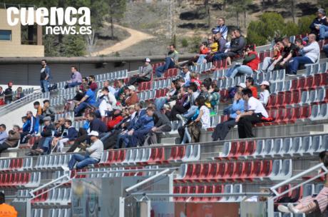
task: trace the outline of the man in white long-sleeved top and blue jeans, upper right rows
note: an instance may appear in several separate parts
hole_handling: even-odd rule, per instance
[[[307,46],[301,46],[301,53],[303,56],[297,56],[289,62],[288,74],[297,74],[299,64],[315,64],[319,59],[320,47],[315,41],[315,35],[309,34],[309,42]]]

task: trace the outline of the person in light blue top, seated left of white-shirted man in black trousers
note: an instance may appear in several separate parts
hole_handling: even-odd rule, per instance
[[[244,112],[245,110],[245,101],[242,99],[242,91],[237,91],[235,94],[235,99],[233,101],[232,106],[230,107],[230,116],[229,119],[223,123],[217,124],[212,133],[213,141],[217,140],[225,140],[227,137],[227,133],[229,133],[230,128],[233,128],[237,123],[235,118],[240,113]]]

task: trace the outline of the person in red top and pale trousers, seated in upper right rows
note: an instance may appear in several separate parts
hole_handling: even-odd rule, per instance
[[[275,70],[275,66],[278,62],[282,60],[282,52],[284,51],[285,47],[284,44],[282,44],[282,41],[277,41],[275,46],[273,46],[273,56],[267,56],[263,60],[262,64],[262,72],[270,72]]]

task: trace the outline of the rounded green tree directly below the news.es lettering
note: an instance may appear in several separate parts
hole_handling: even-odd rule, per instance
[[[86,41],[81,35],[64,35],[61,46],[63,56],[84,56],[86,54]]]

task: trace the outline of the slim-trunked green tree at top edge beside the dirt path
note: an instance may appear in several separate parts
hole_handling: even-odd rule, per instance
[[[114,39],[114,19],[121,19],[126,10],[125,0],[107,0],[108,21],[111,23],[111,37]]]

